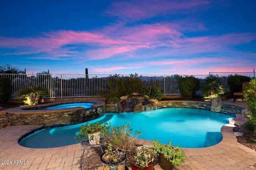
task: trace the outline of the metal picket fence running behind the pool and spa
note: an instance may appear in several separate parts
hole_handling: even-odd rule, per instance
[[[243,73],[223,73],[210,72],[209,75],[216,75],[222,80],[222,85],[228,89],[228,76],[244,75],[251,78],[255,77],[254,72]],[[146,86],[157,85],[164,95],[180,94],[178,80],[181,77],[194,76],[200,81],[198,90],[202,88],[204,79],[209,75],[138,75],[137,77]],[[107,82],[113,80],[114,75],[108,74],[0,74],[2,77],[12,80],[12,98],[16,99],[18,91],[39,86],[47,88],[50,98],[68,97],[96,97],[102,96],[102,92],[108,93]],[[129,77],[128,74],[119,76]]]

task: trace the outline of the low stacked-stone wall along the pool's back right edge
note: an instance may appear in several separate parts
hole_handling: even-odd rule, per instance
[[[210,111],[210,102],[196,102],[196,101],[161,101],[158,103],[159,108],[191,108],[191,109],[204,109]],[[231,116],[242,114],[244,107],[227,104],[222,102],[222,109],[220,113]]]

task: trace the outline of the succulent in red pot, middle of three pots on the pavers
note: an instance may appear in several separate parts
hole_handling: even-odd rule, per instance
[[[132,158],[132,170],[153,170],[155,153],[151,145],[143,145],[137,149],[137,155]]]

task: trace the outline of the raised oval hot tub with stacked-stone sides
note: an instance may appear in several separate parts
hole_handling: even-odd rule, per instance
[[[88,104],[90,107],[70,107],[60,109],[43,109],[63,104]],[[68,125],[83,123],[104,115],[103,101],[53,102],[34,106],[15,107],[6,111],[11,125]]]

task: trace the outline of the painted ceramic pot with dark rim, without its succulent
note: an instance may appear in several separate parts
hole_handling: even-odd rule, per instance
[[[116,163],[112,162],[106,162],[103,160],[103,156],[106,152],[104,152],[100,156],[100,160],[102,162],[102,168],[103,170],[125,170],[125,159],[126,159],[126,154],[124,155],[124,158]]]

